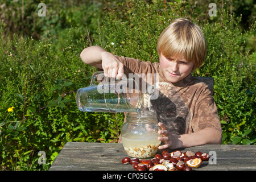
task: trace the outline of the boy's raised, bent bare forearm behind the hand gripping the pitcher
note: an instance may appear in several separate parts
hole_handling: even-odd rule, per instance
[[[100,46],[91,46],[82,50],[80,57],[84,63],[102,68],[102,53],[104,52],[106,51]]]

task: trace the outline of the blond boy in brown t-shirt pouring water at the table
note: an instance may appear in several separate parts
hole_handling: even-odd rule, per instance
[[[204,63],[207,45],[200,28],[179,18],[159,36],[159,63],[115,56],[98,46],[85,48],[81,59],[103,69],[105,76],[158,74],[159,96],[151,105],[162,127],[160,150],[220,144],[222,131],[217,107],[206,84],[191,75]]]

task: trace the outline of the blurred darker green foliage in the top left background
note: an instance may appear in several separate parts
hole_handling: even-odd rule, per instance
[[[38,16],[39,3],[46,5],[46,16]],[[52,39],[58,37],[59,31],[69,27],[87,27],[93,34],[98,28],[104,8],[102,1],[73,0],[73,1],[3,1],[0,0],[0,15],[7,26],[3,32],[32,36],[40,39],[46,32]]]

